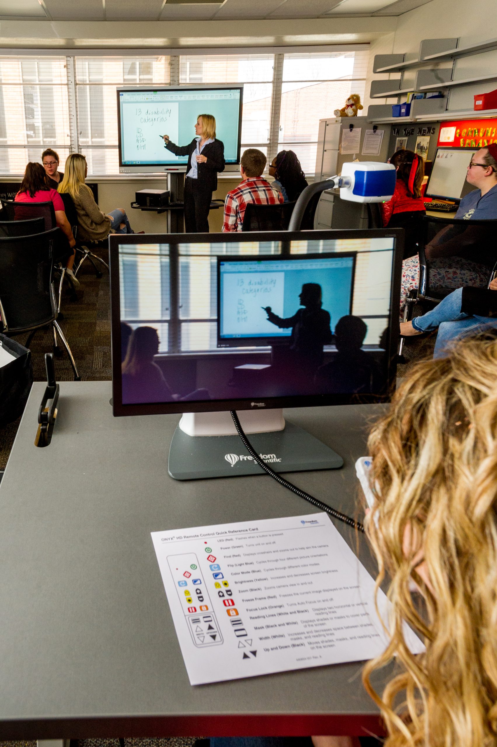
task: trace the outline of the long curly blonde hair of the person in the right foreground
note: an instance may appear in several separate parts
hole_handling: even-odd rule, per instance
[[[386,722],[386,747],[497,744],[497,341],[472,338],[419,364],[372,430],[375,502],[365,521],[386,574],[391,642],[364,669]],[[376,523],[377,522],[377,523]],[[430,588],[416,573],[422,538]],[[425,596],[413,604],[410,578]],[[413,656],[407,620],[425,639]],[[378,695],[371,673],[401,672]]]

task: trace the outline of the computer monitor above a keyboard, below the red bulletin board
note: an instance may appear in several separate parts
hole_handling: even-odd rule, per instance
[[[466,182],[469,161],[475,152],[467,148],[439,148],[433,160],[426,196],[459,201],[475,189]]]

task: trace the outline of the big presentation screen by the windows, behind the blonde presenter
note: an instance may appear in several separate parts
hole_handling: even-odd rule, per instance
[[[239,164],[243,85],[118,88],[121,173],[185,170],[188,155],[164,148],[164,134],[178,146],[191,143],[199,114],[212,114],[226,164]]]

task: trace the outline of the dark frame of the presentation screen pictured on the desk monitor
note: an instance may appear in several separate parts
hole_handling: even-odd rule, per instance
[[[324,258],[336,258],[337,252],[321,252],[314,254],[288,254],[288,255],[277,255],[277,254],[265,254],[265,255],[217,255],[217,350],[229,350],[231,347],[268,347],[268,345],[285,344],[288,341],[290,335],[265,335],[264,337],[230,337],[221,338],[220,336],[220,264],[221,262],[260,262],[260,261],[280,261],[281,259],[297,261],[298,259],[324,259]],[[351,300],[348,306],[348,313],[352,313],[352,304],[354,302],[354,278],[356,276],[356,256],[357,252],[340,252],[341,257],[353,258],[352,264],[352,288],[351,288]],[[220,345],[220,341],[223,344]],[[241,344],[243,343],[243,344]]]

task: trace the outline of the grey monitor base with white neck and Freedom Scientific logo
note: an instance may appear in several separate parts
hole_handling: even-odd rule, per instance
[[[318,438],[291,423],[283,410],[238,411],[241,427],[276,472],[337,469],[343,459]],[[264,474],[253,461],[229,412],[185,412],[173,435],[168,471],[175,480]]]

